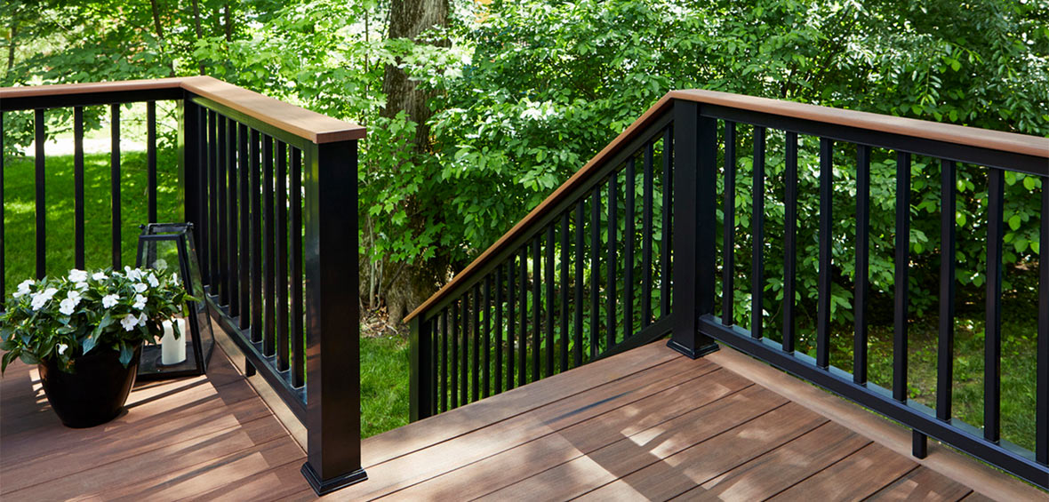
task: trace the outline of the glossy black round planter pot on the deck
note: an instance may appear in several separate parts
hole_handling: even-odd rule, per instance
[[[134,385],[141,355],[142,344],[125,368],[120,352],[100,347],[76,359],[74,373],[60,370],[53,359],[41,363],[38,368],[47,402],[69,428],[89,428],[116,418]]]

